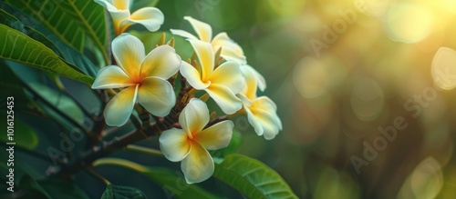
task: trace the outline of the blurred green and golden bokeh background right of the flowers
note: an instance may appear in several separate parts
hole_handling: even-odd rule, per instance
[[[456,197],[456,91],[434,83],[443,70],[450,73],[444,83],[454,84],[448,48],[456,49],[456,2],[197,0],[158,7],[162,30],[192,31],[182,21],[192,15],[243,46],[266,78],[263,95],[277,104],[284,130],[265,141],[245,118],[234,119],[244,126],[240,153],[273,167],[300,197]],[[395,124],[393,139],[378,130],[394,135]]]

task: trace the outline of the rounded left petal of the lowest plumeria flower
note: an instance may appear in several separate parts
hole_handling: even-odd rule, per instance
[[[181,129],[171,128],[161,133],[161,153],[171,162],[179,162],[190,153],[190,140],[187,133]]]

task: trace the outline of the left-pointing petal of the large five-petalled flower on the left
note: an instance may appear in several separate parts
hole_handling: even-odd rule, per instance
[[[122,88],[135,85],[131,78],[119,66],[109,65],[98,71],[92,89]]]

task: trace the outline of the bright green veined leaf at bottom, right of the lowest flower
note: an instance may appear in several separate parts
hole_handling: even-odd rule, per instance
[[[297,198],[273,169],[242,154],[229,154],[215,164],[213,176],[249,198]]]

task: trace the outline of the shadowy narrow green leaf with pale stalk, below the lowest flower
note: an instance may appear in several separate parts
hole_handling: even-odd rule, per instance
[[[186,184],[185,180],[178,177],[172,170],[161,167],[148,167],[119,158],[103,158],[93,163],[94,166],[117,165],[144,174],[164,189],[171,192],[176,198],[219,198],[214,194],[204,191],[196,184]]]

